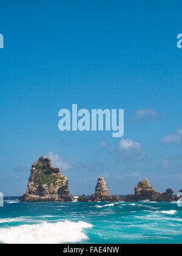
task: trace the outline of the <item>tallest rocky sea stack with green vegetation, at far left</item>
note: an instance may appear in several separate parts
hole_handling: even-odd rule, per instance
[[[69,180],[63,176],[59,168],[53,168],[50,158],[40,157],[33,163],[29,185],[21,202],[72,202]]]

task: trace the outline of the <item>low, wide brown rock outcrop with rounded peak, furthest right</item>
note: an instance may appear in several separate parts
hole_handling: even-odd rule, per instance
[[[157,192],[155,188],[150,185],[149,180],[144,179],[136,185],[135,194],[128,194],[127,197],[122,198],[122,200],[126,202],[137,202],[143,200],[171,202],[176,200],[173,193],[174,192],[170,188],[166,190],[166,193]]]

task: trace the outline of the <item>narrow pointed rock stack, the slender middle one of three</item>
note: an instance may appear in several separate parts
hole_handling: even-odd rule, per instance
[[[115,202],[120,201],[120,196],[110,196],[109,190],[107,189],[106,182],[103,177],[99,177],[98,183],[95,188],[95,194],[92,194],[91,201],[107,201]]]

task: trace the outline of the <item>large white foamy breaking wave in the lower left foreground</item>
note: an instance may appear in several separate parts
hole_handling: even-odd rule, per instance
[[[92,225],[83,221],[23,225],[0,229],[0,241],[6,244],[61,244],[87,240],[84,229]]]

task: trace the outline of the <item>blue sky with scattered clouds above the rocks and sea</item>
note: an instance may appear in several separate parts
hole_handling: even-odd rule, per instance
[[[52,157],[72,194],[148,178],[182,188],[181,1],[5,1],[0,33],[0,190],[21,195]],[[124,137],[60,132],[61,108],[124,108]]]

